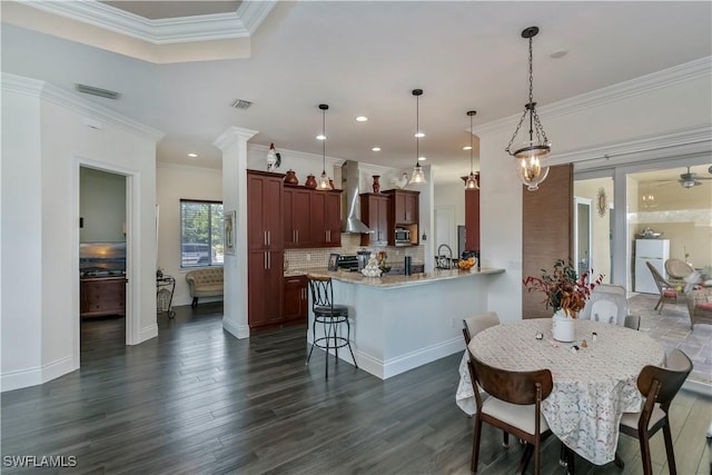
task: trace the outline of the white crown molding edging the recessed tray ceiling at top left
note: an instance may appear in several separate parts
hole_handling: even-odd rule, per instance
[[[149,20],[96,0],[23,3],[152,44],[249,38],[277,4],[274,0],[244,1],[234,13]]]

